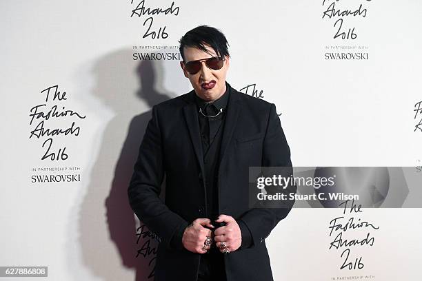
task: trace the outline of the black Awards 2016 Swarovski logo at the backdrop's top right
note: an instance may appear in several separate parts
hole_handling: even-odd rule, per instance
[[[372,0],[322,1],[322,19],[330,22],[333,30],[332,39],[340,44],[325,45],[325,60],[368,60],[368,46],[352,43],[359,38],[361,32],[354,24],[368,17],[368,2],[370,1]]]

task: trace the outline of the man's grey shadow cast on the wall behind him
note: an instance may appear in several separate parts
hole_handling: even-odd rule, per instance
[[[135,90],[134,97],[133,83],[128,85],[132,82],[128,77],[133,76],[134,71],[134,62],[129,61],[131,58],[131,50],[116,52],[103,57],[94,67],[97,77],[94,96],[110,106],[115,115],[107,123],[103,136],[99,136],[101,147],[89,175],[78,223],[83,264],[101,280],[127,279],[131,273],[123,270],[122,265],[136,270],[137,281],[153,280],[154,249],[158,246],[153,238],[140,237],[138,240],[139,222],[130,208],[127,190],[139,145],[150,120],[150,110],[172,95],[157,90],[163,88],[163,79],[158,75],[163,73],[161,62],[141,61],[135,67],[140,87]],[[140,108],[142,104],[146,107]],[[128,123],[127,129],[125,124]],[[117,147],[122,143],[119,154]],[[143,228],[143,232],[147,230]]]

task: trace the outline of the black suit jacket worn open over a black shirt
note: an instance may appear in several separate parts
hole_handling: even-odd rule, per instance
[[[230,85],[228,84],[228,87]],[[203,152],[194,91],[152,108],[134,174],[129,201],[139,220],[161,236],[155,280],[197,280],[201,254],[170,244],[174,233],[204,218],[206,198]],[[284,208],[250,208],[249,167],[291,167],[290,149],[274,104],[231,88],[221,139],[219,214],[242,220],[252,245],[224,256],[228,281],[272,280],[265,238]],[[165,202],[159,198],[165,176]],[[295,191],[295,187],[290,187]]]

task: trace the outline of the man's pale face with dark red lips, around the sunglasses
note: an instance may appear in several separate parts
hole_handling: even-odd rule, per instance
[[[205,45],[208,53],[199,50],[198,48],[184,48],[185,62],[197,61],[199,59],[208,59],[212,56],[217,56],[215,51],[210,45]],[[196,74],[190,74],[185,70],[185,64],[180,63],[185,77],[189,79],[195,93],[199,98],[204,101],[215,101],[225,93],[225,76],[227,75],[230,61],[229,57],[225,56],[223,67],[219,70],[212,70],[205,65],[205,61],[202,62],[202,67]]]

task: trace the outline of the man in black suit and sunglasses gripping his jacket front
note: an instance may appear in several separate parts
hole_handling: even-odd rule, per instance
[[[272,280],[265,238],[292,204],[250,208],[248,171],[292,166],[275,105],[225,81],[219,30],[190,30],[180,52],[194,90],[152,108],[128,189],[135,214],[161,236],[155,280]]]

